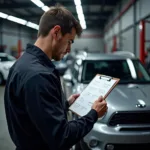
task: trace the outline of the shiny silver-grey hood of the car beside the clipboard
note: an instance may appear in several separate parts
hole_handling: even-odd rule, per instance
[[[87,85],[84,85],[84,88]],[[109,118],[118,111],[150,110],[150,84],[118,84],[106,98]],[[143,107],[139,107],[139,106]]]

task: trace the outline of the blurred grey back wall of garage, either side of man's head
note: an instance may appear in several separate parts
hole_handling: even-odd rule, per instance
[[[10,25],[11,24],[11,25]],[[34,43],[37,31],[19,26],[16,23],[3,20],[1,25],[2,40],[0,44],[6,45],[5,52],[11,53],[11,49],[17,48],[18,40],[21,39],[22,49],[27,43]],[[103,52],[104,42],[100,30],[84,30],[80,38],[76,38],[72,50],[88,50],[90,52]]]

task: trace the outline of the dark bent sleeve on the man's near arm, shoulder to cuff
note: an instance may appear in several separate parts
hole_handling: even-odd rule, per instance
[[[83,138],[97,121],[95,110],[78,120],[67,121],[53,75],[36,75],[25,85],[25,105],[33,124],[50,149],[69,149]]]

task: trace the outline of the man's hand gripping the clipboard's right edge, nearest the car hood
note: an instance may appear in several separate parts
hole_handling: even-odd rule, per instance
[[[103,97],[99,97],[93,104],[92,109],[96,110],[98,118],[102,117],[107,111],[107,103]]]

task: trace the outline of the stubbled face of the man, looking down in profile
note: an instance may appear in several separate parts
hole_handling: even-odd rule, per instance
[[[76,36],[75,28],[72,28],[71,33],[62,36],[61,31],[53,44],[52,58],[56,61],[61,60],[67,53],[71,51],[71,44],[74,42]]]

